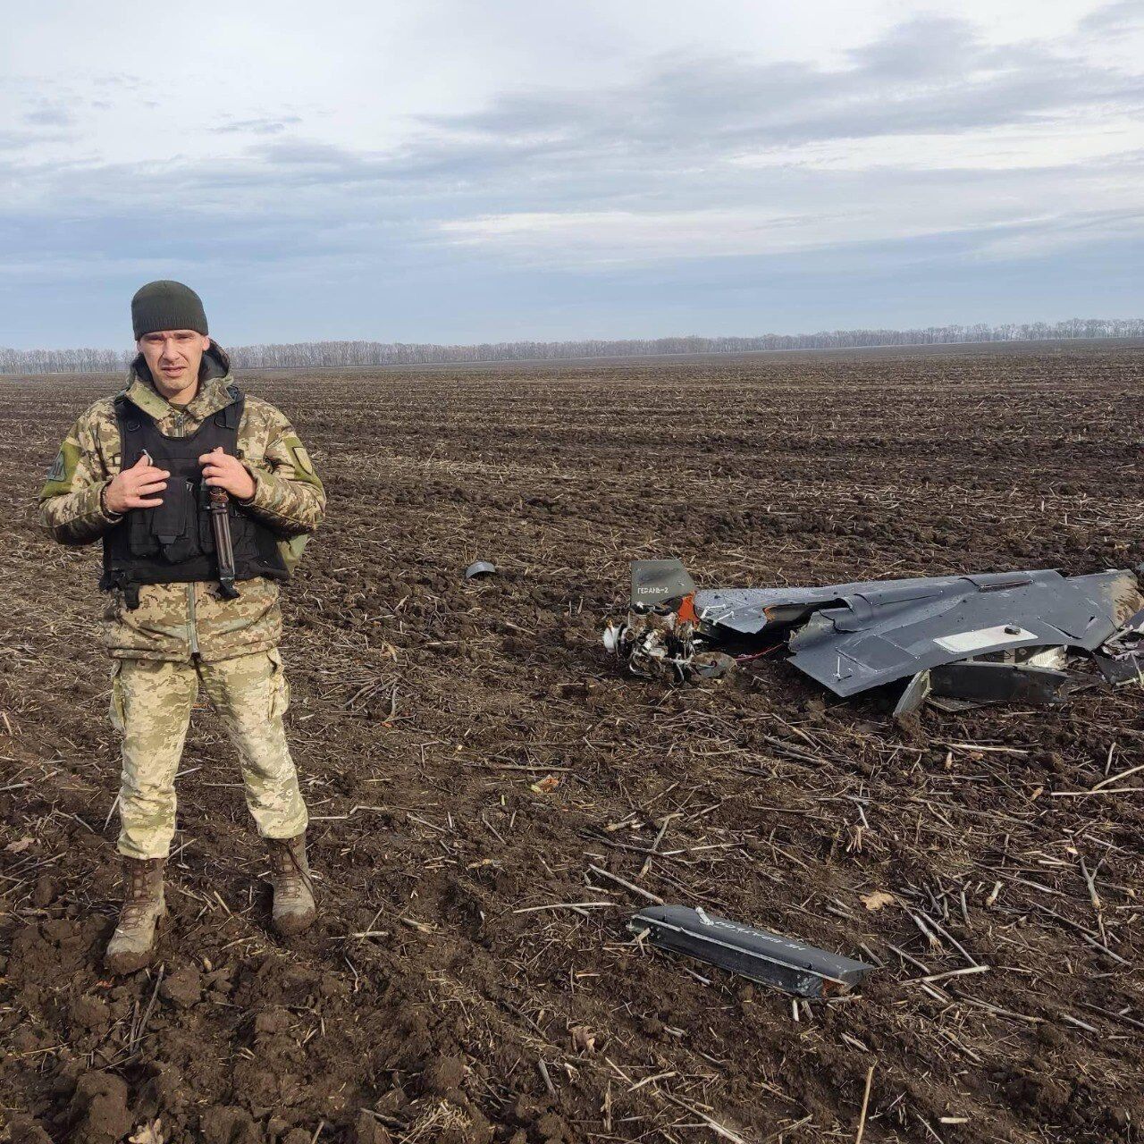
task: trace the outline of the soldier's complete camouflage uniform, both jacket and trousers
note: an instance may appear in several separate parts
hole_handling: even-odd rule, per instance
[[[232,379],[212,347],[205,378],[186,406],[168,404],[133,372],[128,396],[156,418],[169,437],[189,436],[232,398]],[[244,510],[280,538],[287,563],[325,513],[326,496],[313,464],[287,419],[247,395],[238,450],[255,482]],[[113,399],[96,402],[72,426],[40,494],[41,517],[65,545],[98,540],[120,518],[102,507],[103,488],[120,470]],[[305,805],[283,729],[288,686],[277,644],[281,634],[278,586],[256,578],[239,583],[238,599],[221,598],[217,585],[140,586],[130,609],[113,590],[103,642],[116,660],[111,718],[122,733],[119,851],[132,858],[167,853],[175,829],[175,771],[201,683],[238,749],[246,801],[259,833],[288,839],[307,825]]]

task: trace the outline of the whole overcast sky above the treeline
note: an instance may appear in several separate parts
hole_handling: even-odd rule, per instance
[[[1139,0],[39,0],[0,344],[152,278],[224,345],[1139,317],[1142,61]]]

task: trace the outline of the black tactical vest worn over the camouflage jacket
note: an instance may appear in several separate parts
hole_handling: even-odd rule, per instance
[[[209,488],[202,483],[199,458],[220,445],[223,452],[238,455],[238,426],[245,398],[237,386],[231,386],[228,392],[231,404],[207,418],[188,437],[164,436],[154,418],[128,400],[126,394],[116,398],[121,467],[129,469],[145,450],[157,468],[170,472],[160,494],[162,505],[129,509],[103,537],[100,587],[105,591],[122,589],[129,606],[137,605],[142,583],[219,579]],[[278,538],[233,501],[230,532],[236,580],[287,579]]]

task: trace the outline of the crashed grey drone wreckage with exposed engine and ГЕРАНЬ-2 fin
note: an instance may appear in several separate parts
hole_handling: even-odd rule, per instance
[[[636,561],[630,611],[604,630],[636,675],[675,683],[784,643],[796,668],[842,698],[907,681],[895,715],[924,702],[1059,704],[1086,659],[1113,686],[1144,685],[1144,597],[1126,570],[697,590],[680,561]]]

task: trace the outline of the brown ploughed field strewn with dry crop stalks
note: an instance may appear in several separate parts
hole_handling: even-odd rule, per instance
[[[672,690],[599,642],[639,557],[705,586],[1133,566],[1142,380],[1130,344],[246,376],[329,492],[284,648],[321,913],[269,932],[204,708],[160,964],[113,980],[98,553],[34,495],[118,379],[0,379],[0,1130],[1144,1138],[1144,771],[1115,778],[1144,693],[896,725],[773,657]],[[641,948],[644,898],[591,867],[882,968],[796,1007]]]

